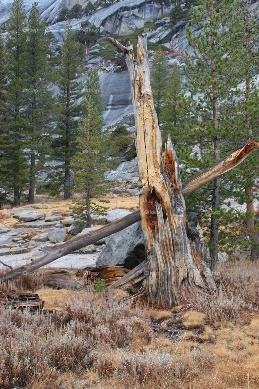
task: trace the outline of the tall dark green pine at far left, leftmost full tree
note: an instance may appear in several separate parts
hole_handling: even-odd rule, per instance
[[[26,126],[24,109],[27,104],[26,39],[28,37],[25,5],[14,0],[7,21],[6,61],[7,87],[5,93],[5,124],[2,124],[1,175],[2,186],[13,191],[14,204],[20,203],[22,191],[28,182],[28,165],[24,154]]]

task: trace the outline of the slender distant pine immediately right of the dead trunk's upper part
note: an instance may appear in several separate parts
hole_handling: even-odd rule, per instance
[[[162,47],[154,54],[154,61],[151,69],[151,88],[156,113],[158,115],[158,124],[161,122],[162,105],[164,101],[166,79],[168,77],[167,61]]]

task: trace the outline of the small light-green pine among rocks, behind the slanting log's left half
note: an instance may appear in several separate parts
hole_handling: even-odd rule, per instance
[[[96,70],[89,72],[86,81],[84,94],[84,116],[79,126],[78,152],[74,156],[75,191],[82,198],[73,199],[76,205],[72,208],[81,221],[91,226],[91,213],[103,214],[107,207],[97,205],[91,198],[98,195],[105,195],[105,185],[100,185],[105,178],[105,171],[108,167],[106,142],[108,135],[103,133],[101,128],[105,124],[102,113],[104,107],[101,99],[99,77]],[[106,202],[106,200],[98,200]],[[90,211],[94,205],[94,211]]]

